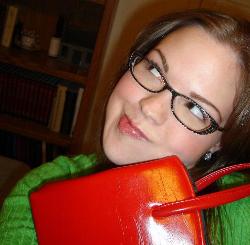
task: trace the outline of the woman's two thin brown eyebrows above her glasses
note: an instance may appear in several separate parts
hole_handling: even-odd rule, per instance
[[[155,48],[153,50],[155,50],[159,54],[159,56],[161,57],[161,62],[162,62],[164,71],[167,73],[169,70],[169,66],[168,66],[166,57],[163,55],[163,53],[161,52],[160,49]],[[219,122],[222,122],[221,113],[220,113],[219,109],[213,103],[211,103],[210,101],[208,101],[206,98],[202,97],[201,95],[196,94],[195,92],[191,92],[190,96],[193,99],[199,100],[200,102],[203,102],[203,103],[207,104],[208,106],[212,107],[219,115]]]

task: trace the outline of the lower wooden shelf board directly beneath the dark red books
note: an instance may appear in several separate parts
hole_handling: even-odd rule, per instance
[[[0,114],[0,129],[62,147],[68,147],[71,144],[69,136],[52,132],[37,123],[3,114]]]

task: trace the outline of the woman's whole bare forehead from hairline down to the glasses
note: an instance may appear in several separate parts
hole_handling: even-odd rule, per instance
[[[201,27],[181,28],[157,46],[168,65],[171,85],[189,95],[191,91],[215,104],[227,118],[232,111],[239,81],[237,55]],[[150,55],[161,63],[156,51]]]

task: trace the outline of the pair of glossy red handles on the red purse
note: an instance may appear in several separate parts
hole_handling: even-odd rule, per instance
[[[196,183],[198,183],[198,189],[202,190],[210,183],[213,183],[218,178],[225,176],[226,174],[239,171],[242,169],[250,168],[250,163],[237,164],[230,167],[225,167],[223,169],[217,170],[206,177],[201,178]],[[186,200],[165,203],[160,206],[156,206],[152,210],[152,215],[154,217],[166,217],[174,214],[190,213],[194,211],[200,211],[202,209],[208,209],[230,203],[250,195],[250,184],[244,184],[241,186],[229,188],[227,190],[222,190],[214,192],[211,194],[206,194],[202,196],[197,196],[189,198]]]

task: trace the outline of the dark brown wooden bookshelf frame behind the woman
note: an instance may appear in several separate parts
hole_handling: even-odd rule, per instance
[[[84,88],[84,92],[73,135],[54,132],[48,126],[41,125],[35,121],[3,113],[0,114],[0,130],[62,147],[70,154],[79,154],[81,153],[81,139],[84,138],[84,129],[88,124],[88,114],[91,110],[91,102],[97,85],[97,74],[107,42],[107,34],[111,26],[113,12],[116,7],[116,0],[67,0],[63,1],[65,5],[63,7],[62,2],[58,0],[39,0],[36,3],[37,6],[34,4],[34,1],[32,3],[31,0],[6,0],[5,2],[6,4],[18,4],[20,9],[26,9],[25,14],[22,13],[21,17],[23,16],[24,22],[26,21],[29,27],[44,29],[44,27],[40,26],[42,23],[47,29],[46,31],[40,31],[40,36],[42,34],[40,40],[41,48],[37,51],[29,51],[13,46],[9,48],[0,46],[0,62],[69,81],[76,86]],[[48,56],[49,40],[55,29],[56,19],[58,18],[60,9],[69,8],[68,6],[70,6],[72,10],[74,7],[78,7],[80,3],[83,4],[85,2],[87,4],[96,4],[99,9],[101,6],[102,9],[96,39],[93,45],[93,55],[87,69]],[[59,5],[60,7],[58,7]],[[30,20],[34,21],[30,23]],[[93,24],[93,26],[96,28],[96,23]]]

